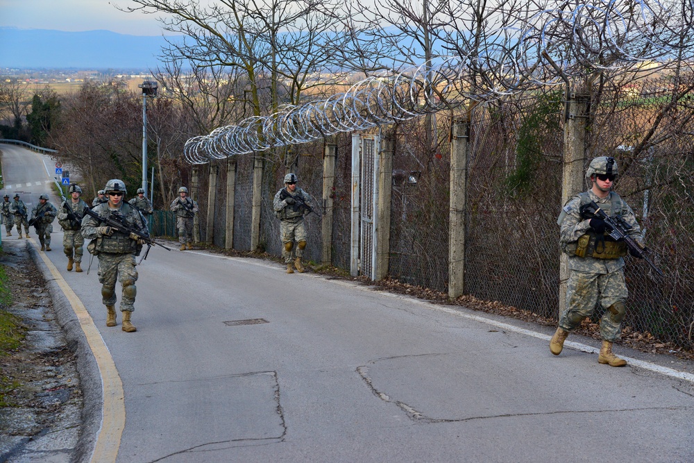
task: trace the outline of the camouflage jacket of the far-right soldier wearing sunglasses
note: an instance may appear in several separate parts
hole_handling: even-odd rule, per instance
[[[623,258],[609,260],[596,259],[587,255],[586,257],[579,257],[568,252],[571,244],[578,242],[578,239],[583,235],[591,233],[590,220],[583,219],[580,212],[581,205],[589,203],[591,200],[598,203],[600,208],[610,217],[614,215],[622,216],[627,224],[632,227],[632,229],[629,230],[629,235],[636,239],[637,242],[643,241],[641,227],[638,226],[634,211],[632,211],[632,208],[629,208],[629,205],[627,205],[618,194],[609,192],[605,198],[598,198],[595,193],[589,190],[588,192],[573,196],[573,198],[569,199],[566,205],[564,205],[566,217],[564,217],[564,221],[562,221],[560,225],[561,235],[559,237],[559,242],[569,255],[569,269],[588,273],[611,273],[624,267]]]

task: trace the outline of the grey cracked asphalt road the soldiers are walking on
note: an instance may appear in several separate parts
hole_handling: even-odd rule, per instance
[[[25,176],[12,183],[42,182],[53,166],[1,148],[6,178]],[[641,362],[613,368],[581,351],[598,344],[580,337],[569,339],[585,346],[555,357],[546,328],[158,248],[138,267],[137,332],[126,333],[120,314],[105,326],[96,260],[89,273],[88,254],[84,273],[67,272],[61,242],[55,233],[40,255],[117,370],[125,421],[103,455],[117,451],[118,462],[694,461],[686,362],[616,347]]]

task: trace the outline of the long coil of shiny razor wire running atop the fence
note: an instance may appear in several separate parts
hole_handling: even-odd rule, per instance
[[[313,142],[455,110],[471,100],[489,101],[595,71],[663,60],[691,43],[694,0],[676,4],[679,10],[657,0],[565,1],[518,26],[486,34],[479,49],[466,56],[439,57],[416,69],[369,76],[327,99],[192,137],[185,143],[185,159],[205,164]]]

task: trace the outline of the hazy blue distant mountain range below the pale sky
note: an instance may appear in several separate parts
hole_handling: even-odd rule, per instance
[[[164,37],[0,27],[0,68],[154,69]]]

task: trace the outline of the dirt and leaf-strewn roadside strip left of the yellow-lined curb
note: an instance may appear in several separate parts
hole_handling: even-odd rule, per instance
[[[3,241],[0,263],[12,281],[12,307],[26,338],[0,357],[1,376],[12,385],[9,407],[0,407],[0,462],[69,462],[78,442],[82,392],[74,350],[53,313],[46,282],[26,242]]]

